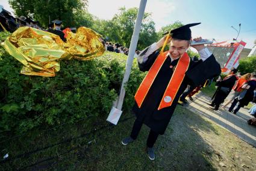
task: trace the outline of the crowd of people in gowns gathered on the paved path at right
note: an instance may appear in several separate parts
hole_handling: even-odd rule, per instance
[[[207,80],[205,85],[211,81]],[[195,95],[202,87],[192,87],[188,85],[187,89],[180,97],[180,101],[187,104],[186,96],[193,101],[192,96]],[[219,110],[221,104],[223,110],[227,110],[233,114],[236,114],[241,107],[245,107],[249,102],[255,105],[248,111],[252,116],[256,117],[256,74],[246,73],[245,75],[237,74],[237,69],[232,68],[225,78],[216,81],[217,90],[211,98],[212,101],[210,108],[212,110]],[[231,104],[229,107],[228,105]],[[228,107],[228,108],[226,108]]]

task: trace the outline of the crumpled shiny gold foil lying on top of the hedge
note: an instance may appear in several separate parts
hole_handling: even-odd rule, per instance
[[[60,60],[90,60],[105,51],[99,35],[90,28],[80,27],[77,33],[69,32],[67,42],[58,35],[28,26],[18,28],[2,43],[6,51],[24,66],[25,75],[55,76]]]

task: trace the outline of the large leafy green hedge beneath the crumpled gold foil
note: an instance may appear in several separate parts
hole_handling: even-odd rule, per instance
[[[120,89],[126,56],[105,52],[90,61],[64,60],[55,77],[20,74],[22,64],[0,48],[0,132],[22,133],[35,126],[107,117]],[[145,73],[136,60],[127,85],[124,110]]]

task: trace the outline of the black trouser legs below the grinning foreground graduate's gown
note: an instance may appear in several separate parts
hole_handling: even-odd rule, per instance
[[[143,123],[139,122],[137,119],[134,121],[133,129],[131,130],[131,138],[136,140],[137,136],[139,135],[140,129],[142,128]],[[155,144],[155,141],[157,141],[158,133],[153,131],[152,129],[149,132],[148,140],[146,141],[146,145],[149,148],[152,148]]]

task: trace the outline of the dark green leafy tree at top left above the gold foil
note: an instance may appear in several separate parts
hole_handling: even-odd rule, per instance
[[[88,0],[9,0],[16,16],[33,17],[47,27],[49,20],[63,20],[64,25],[76,26]],[[86,14],[86,13],[84,13]],[[78,17],[80,15],[80,17]]]

